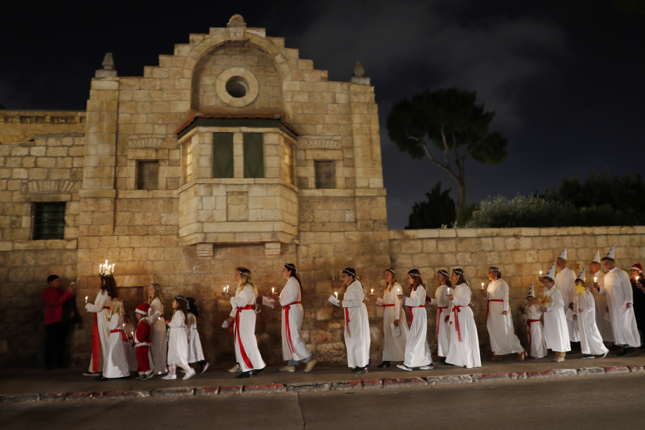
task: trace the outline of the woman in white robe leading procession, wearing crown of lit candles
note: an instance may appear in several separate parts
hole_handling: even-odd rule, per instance
[[[108,350],[110,329],[110,301],[117,297],[117,284],[113,277],[101,277],[101,289],[94,303],[86,303],[85,310],[94,313],[92,328],[92,358],[90,367],[84,372],[85,376],[98,376],[103,371],[105,353]]]

